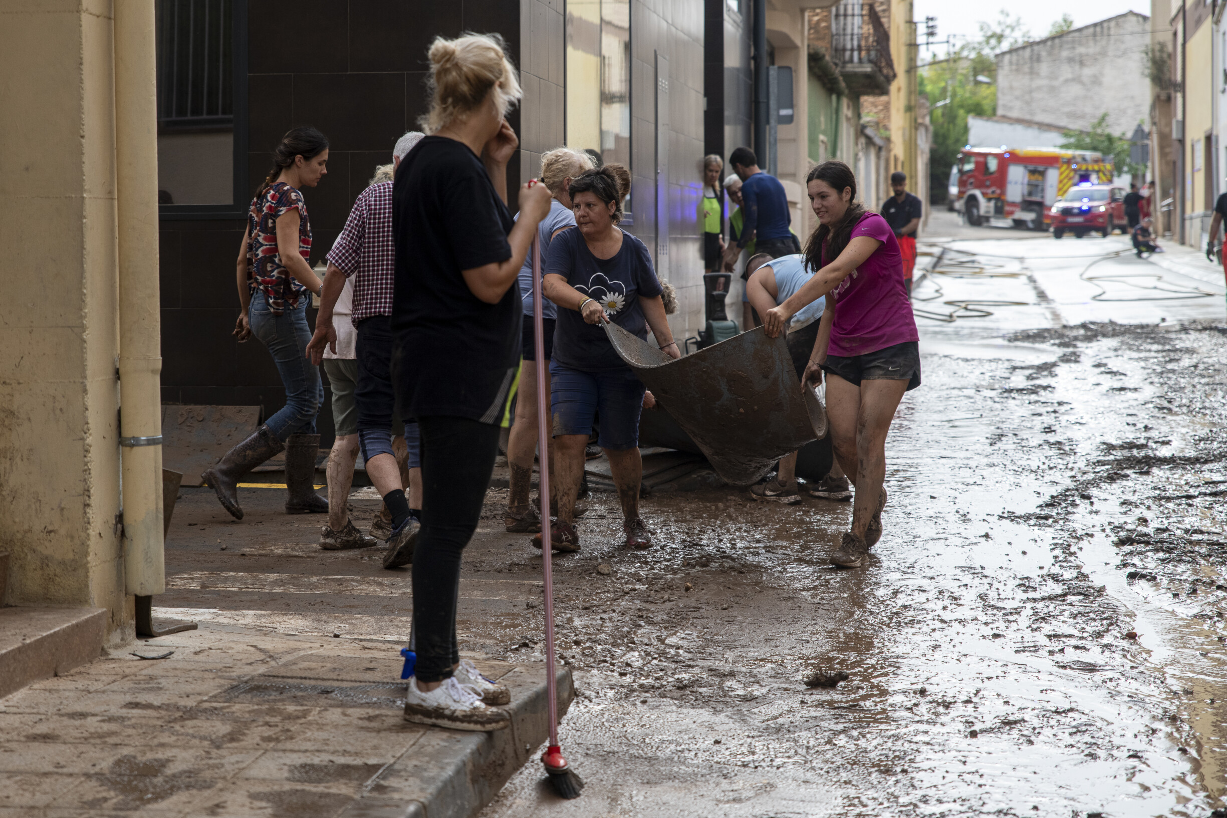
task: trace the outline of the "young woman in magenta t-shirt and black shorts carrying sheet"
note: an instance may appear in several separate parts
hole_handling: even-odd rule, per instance
[[[852,531],[831,562],[859,568],[882,536],[886,433],[903,392],[920,385],[919,336],[894,232],[856,201],[852,168],[823,162],[806,186],[818,226],[805,255],[817,272],[763,319],[775,337],[801,308],[829,294],[802,380],[818,384],[827,373],[831,443],[856,486]]]

